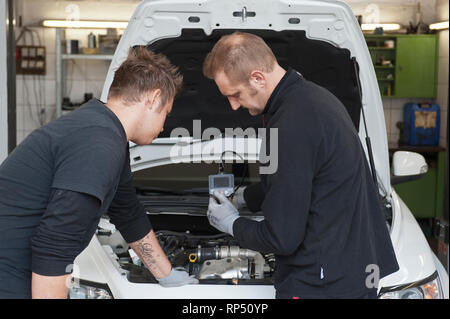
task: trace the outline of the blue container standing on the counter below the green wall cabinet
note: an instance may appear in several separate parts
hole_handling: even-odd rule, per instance
[[[403,108],[403,143],[439,145],[441,114],[437,104],[407,103]]]

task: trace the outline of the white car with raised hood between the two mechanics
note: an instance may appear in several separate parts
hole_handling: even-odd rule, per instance
[[[448,275],[418,223],[391,185],[382,100],[360,26],[350,7],[329,0],[143,1],[129,21],[105,81],[106,101],[114,70],[130,47],[166,54],[184,75],[163,136],[151,145],[132,145],[135,186],[161,246],[174,267],[189,271],[198,285],[159,286],[108,218],[77,257],[72,298],[274,298],[276,259],[239,247],[206,218],[208,175],[219,163],[236,184],[258,180],[261,138],[247,134],[261,126],[242,108],[233,112],[214,82],[202,75],[203,59],[221,35],[254,32],[271,46],[281,66],[291,66],[324,86],[346,106],[367,160],[376,169],[380,201],[400,269],[381,279],[379,298],[448,298]],[[242,128],[244,135],[220,135],[216,127]],[[172,134],[173,129],[183,133]],[[211,134],[213,132],[214,134]],[[201,134],[204,133],[204,134]],[[209,138],[214,135],[215,138]],[[237,134],[239,135],[239,134]],[[172,136],[172,137],[171,137]],[[369,152],[366,137],[370,137]],[[235,153],[233,153],[235,152]],[[237,160],[230,163],[229,160]],[[245,163],[242,163],[245,161]],[[239,163],[241,162],[241,163]],[[426,172],[419,154],[395,154],[394,178]],[[242,176],[247,176],[244,180]],[[262,214],[241,215],[261,220]],[[372,275],[368,271],[368,278]]]

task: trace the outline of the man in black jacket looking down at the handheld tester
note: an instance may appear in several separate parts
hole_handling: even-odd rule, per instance
[[[233,110],[262,114],[266,150],[278,143],[278,170],[210,199],[212,226],[244,248],[274,253],[277,298],[375,298],[366,269],[398,270],[378,190],[344,105],[299,72],[283,69],[249,33],[222,37],[204,62]],[[278,139],[270,132],[278,130]],[[271,157],[274,155],[271,154]],[[263,221],[240,217],[247,205]]]

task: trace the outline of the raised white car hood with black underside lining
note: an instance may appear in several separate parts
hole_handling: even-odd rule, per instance
[[[346,106],[368,158],[361,112],[364,110],[380,192],[389,198],[388,144],[378,83],[360,26],[350,7],[340,1],[143,1],[136,8],[116,49],[104,84],[102,101],[107,100],[114,71],[126,59],[129,48],[137,45],[166,54],[180,68],[185,83],[174,103],[173,115],[166,121],[164,132],[167,135],[151,145],[133,146],[132,169],[177,160],[177,156],[170,155],[174,144],[180,140],[170,138],[174,128],[181,127],[189,132],[192,137],[184,140],[187,144],[217,143],[202,141],[195,136],[192,128],[194,119],[202,120],[204,128],[217,127],[221,131],[227,127],[261,127],[261,119],[251,117],[246,110],[240,108],[232,112],[214,82],[201,73],[204,56],[215,41],[221,35],[236,30],[262,36],[281,66],[293,67],[306,79],[335,94]],[[355,71],[354,61],[359,74]],[[260,143],[257,138],[250,140]],[[192,149],[194,154],[191,159],[198,158],[198,150],[201,147]],[[255,152],[248,151],[245,157],[256,160],[258,151],[259,148]],[[178,160],[186,158],[186,153],[179,154]],[[217,160],[220,154],[213,152],[208,156],[210,160]]]

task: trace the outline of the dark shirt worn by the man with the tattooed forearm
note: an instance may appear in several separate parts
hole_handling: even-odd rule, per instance
[[[0,293],[4,280],[34,268],[64,274],[63,261],[76,256],[69,250],[81,252],[107,212],[128,242],[151,230],[132,187],[125,131],[95,99],[17,146],[0,166],[0,194]]]

